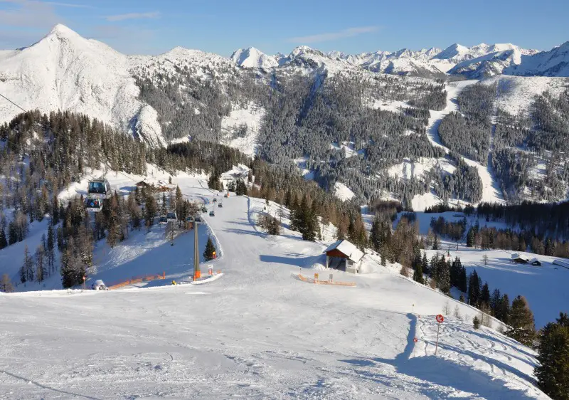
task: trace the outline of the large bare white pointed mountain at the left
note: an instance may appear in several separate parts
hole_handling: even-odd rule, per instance
[[[137,100],[139,89],[128,68],[126,56],[57,25],[32,46],[0,54],[0,90],[26,110],[73,110],[125,130],[133,128],[134,117],[137,127],[148,128],[142,136],[161,144],[156,112]],[[9,102],[0,102],[0,122],[9,122],[18,112]]]

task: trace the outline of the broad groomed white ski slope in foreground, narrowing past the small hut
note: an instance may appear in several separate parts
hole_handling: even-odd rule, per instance
[[[173,180],[185,196],[215,196],[202,179]],[[0,399],[548,398],[533,384],[535,353],[474,331],[472,307],[373,256],[366,274],[321,270],[333,239],[304,242],[286,218],[282,236],[267,237],[253,224],[264,206],[230,196],[204,217],[221,257],[201,268],[222,270],[215,282],[167,285],[190,273],[191,234],[169,246],[137,233],[104,254],[97,245],[92,278],[165,270],[158,286],[0,294]],[[357,286],[302,282],[299,271]],[[465,322],[447,317],[435,357],[434,315],[447,302]]]

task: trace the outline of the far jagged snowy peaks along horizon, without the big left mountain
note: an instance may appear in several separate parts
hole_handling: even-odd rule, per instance
[[[346,54],[339,51],[324,53],[307,46],[299,46],[288,55],[267,56],[257,48],[240,48],[231,60],[242,68],[282,68],[289,65],[324,68],[334,72],[346,67],[363,68],[376,73],[397,75],[463,75],[482,79],[494,75],[569,76],[569,42],[539,52],[520,48],[511,43],[486,44],[465,47],[457,43],[440,48],[412,51],[376,51],[374,53]]]

